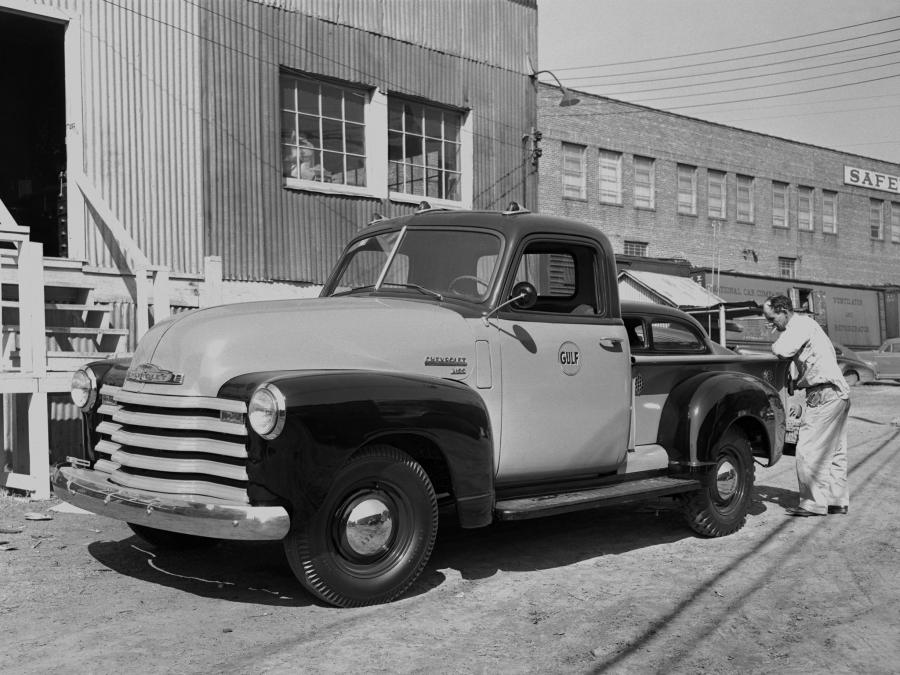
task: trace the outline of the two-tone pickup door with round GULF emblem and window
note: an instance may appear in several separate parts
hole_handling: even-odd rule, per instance
[[[501,482],[591,476],[624,461],[631,363],[618,293],[600,281],[615,283],[608,264],[594,242],[538,238],[523,242],[510,267],[501,297],[526,281],[537,302],[507,306],[492,321],[503,390]]]

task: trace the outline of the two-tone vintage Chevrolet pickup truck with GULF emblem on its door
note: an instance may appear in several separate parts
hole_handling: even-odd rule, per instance
[[[151,544],[282,540],[321,600],[387,602],[439,515],[672,495],[699,534],[738,530],[782,455],[786,367],[621,306],[594,227],[423,207],[363,229],[319,298],[179,314],[77,372],[88,460],[53,483]]]

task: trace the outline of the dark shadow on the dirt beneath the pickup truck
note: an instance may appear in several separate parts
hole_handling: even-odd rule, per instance
[[[796,492],[758,485],[749,516],[767,505],[796,503]],[[499,571],[537,571],[672,544],[697,535],[671,498],[598,508],[551,518],[498,522],[463,530],[452,516],[441,519],[431,560],[404,598],[444,584],[441,570],[453,569],[466,580]],[[95,541],[90,554],[119,574],[226,602],[280,607],[321,606],[295,579],[279,542],[219,541],[198,549],[156,549],[136,536]]]

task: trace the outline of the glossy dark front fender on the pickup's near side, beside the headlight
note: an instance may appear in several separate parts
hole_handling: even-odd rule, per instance
[[[230,380],[219,396],[249,401],[265,383],[284,395],[286,418],[273,440],[250,431],[251,503],[287,502],[292,520],[302,522],[322,503],[335,472],[355,452],[386,443],[418,461],[436,492],[452,491],[463,527],[491,522],[490,418],[481,397],[468,386],[378,371],[264,372]]]

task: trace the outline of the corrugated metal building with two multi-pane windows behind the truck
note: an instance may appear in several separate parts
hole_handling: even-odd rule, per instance
[[[27,36],[24,70],[28,42],[58,54],[52,86],[31,72],[50,91],[7,114],[53,111],[42,170],[65,172],[67,220],[15,210],[37,160],[4,159],[0,197],[88,267],[127,271],[124,231],[173,278],[213,255],[226,280],[320,283],[374,212],[501,206],[530,169],[536,0],[0,0],[0,24]],[[292,176],[316,126],[325,170]],[[4,145],[34,155],[38,131]]]

